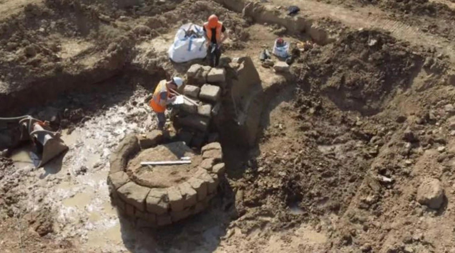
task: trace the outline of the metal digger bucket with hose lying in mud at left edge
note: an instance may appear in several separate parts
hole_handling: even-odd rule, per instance
[[[31,140],[35,145],[35,152],[31,152],[31,159],[36,168],[68,150],[68,146],[60,139],[60,134],[45,129],[47,122],[34,119],[31,116],[18,118],[0,118],[5,121],[19,120],[20,139]]]

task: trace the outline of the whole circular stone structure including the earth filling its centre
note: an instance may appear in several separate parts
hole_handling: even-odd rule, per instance
[[[111,201],[120,213],[164,226],[204,210],[224,175],[221,145],[202,147],[195,154],[184,142],[162,144],[162,132],[127,135],[111,154],[107,182]],[[180,160],[191,164],[142,166],[144,161]]]

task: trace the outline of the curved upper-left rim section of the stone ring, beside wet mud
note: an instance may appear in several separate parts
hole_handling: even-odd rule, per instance
[[[126,167],[128,157],[136,154],[140,150],[139,142],[135,134],[128,134],[119,143],[117,149],[112,152],[110,164],[111,173],[123,171]]]

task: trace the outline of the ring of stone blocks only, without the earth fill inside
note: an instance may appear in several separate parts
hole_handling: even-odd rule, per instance
[[[197,159],[198,155],[191,154],[192,151],[185,144],[174,142],[158,145],[161,140],[160,131],[154,131],[146,137],[138,138],[134,134],[126,136],[117,150],[111,154],[111,168],[108,176],[111,200],[118,210],[142,225],[149,224],[152,227],[178,222],[204,210],[216,195],[218,183],[224,175],[222,149],[219,143],[213,142],[203,146],[201,155]],[[139,152],[163,148],[171,150],[176,146],[180,149],[177,152],[181,152],[180,155],[192,156],[192,173],[174,181],[172,186],[162,188],[147,186],[144,181],[138,181],[137,177],[131,176],[131,170],[127,169],[130,166],[129,159]],[[153,168],[146,170],[153,170]],[[163,171],[167,170],[158,172],[162,174]],[[145,176],[140,177],[142,180],[145,178]]]

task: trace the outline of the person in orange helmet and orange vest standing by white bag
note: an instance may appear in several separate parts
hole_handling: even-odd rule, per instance
[[[222,43],[227,39],[226,28],[223,23],[218,21],[217,15],[208,17],[208,22],[204,23],[204,32],[207,39],[208,60],[211,67],[217,67],[220,62]]]

